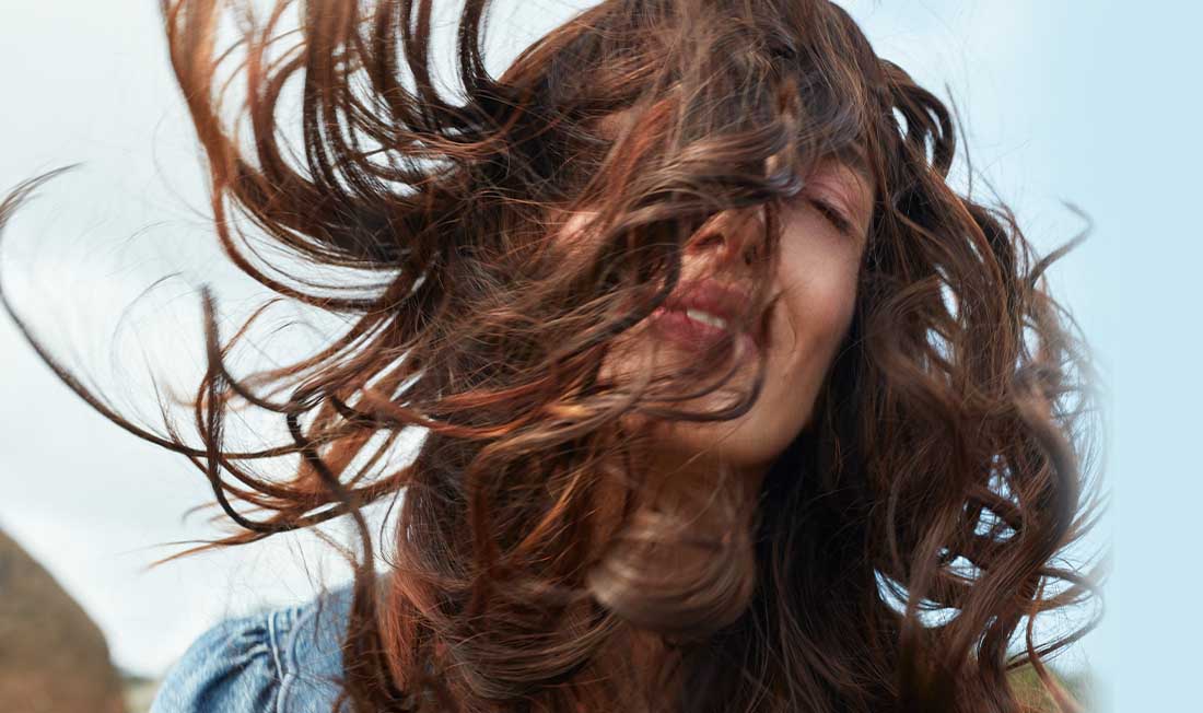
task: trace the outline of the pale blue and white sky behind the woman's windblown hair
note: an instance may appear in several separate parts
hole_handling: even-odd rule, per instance
[[[7,0],[0,11],[0,188],[85,161],[13,224],[5,272],[19,305],[47,329],[69,331],[91,364],[115,316],[155,277],[180,265],[229,274],[205,230],[205,194],[190,126],[178,106],[150,1]],[[1196,315],[1201,242],[1201,103],[1195,4],[1041,0],[896,0],[845,4],[878,52],[962,113],[974,166],[1017,209],[1038,248],[1092,237],[1051,271],[1054,289],[1092,339],[1113,400],[1108,468],[1115,574],[1103,630],[1078,660],[1114,678],[1116,711],[1181,709],[1199,640],[1193,596],[1201,469]],[[570,4],[505,0],[493,25],[500,59],[567,17]],[[509,28],[509,31],[503,31]],[[497,61],[497,60],[494,60]],[[497,66],[491,65],[491,66]],[[947,90],[946,90],[947,84]],[[148,232],[141,228],[155,225]],[[129,239],[137,233],[137,237]],[[229,283],[227,307],[238,292]],[[186,283],[165,322],[195,328]],[[83,301],[85,309],[77,305]],[[135,310],[128,327],[152,320]],[[197,353],[132,337],[179,374]],[[60,344],[61,341],[55,341]],[[288,543],[137,570],[155,542],[202,536],[183,511],[207,498],[201,475],[125,435],[78,402],[0,322],[0,527],[75,593],[114,656],[161,671],[215,618],[260,601],[308,595]],[[141,364],[128,363],[135,376]],[[108,379],[107,369],[100,376]],[[108,381],[106,381],[108,384]],[[138,404],[135,379],[131,398]],[[150,415],[149,411],[144,411]],[[67,438],[84,447],[60,445]],[[1107,533],[1100,537],[1106,539]],[[302,539],[303,540],[303,539]],[[313,557],[312,543],[301,549]],[[312,560],[310,560],[312,562]],[[250,602],[250,604],[248,604]],[[180,613],[183,612],[183,616]]]

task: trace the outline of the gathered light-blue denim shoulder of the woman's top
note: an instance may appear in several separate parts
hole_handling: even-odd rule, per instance
[[[350,588],[213,626],[167,672],[150,713],[330,713]]]

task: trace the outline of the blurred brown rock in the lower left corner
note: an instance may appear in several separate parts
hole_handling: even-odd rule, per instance
[[[0,711],[124,713],[105,636],[54,577],[0,531]]]

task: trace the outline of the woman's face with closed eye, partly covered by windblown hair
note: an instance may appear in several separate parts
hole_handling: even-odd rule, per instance
[[[657,421],[639,424],[654,435],[654,457],[664,465],[689,470],[723,459],[736,473],[761,474],[812,420],[817,396],[847,335],[857,298],[857,281],[872,214],[873,186],[851,164],[820,161],[805,188],[781,212],[780,254],[769,297],[780,295],[760,349],[768,370],[760,396],[745,415],[730,421]],[[576,215],[568,231],[588,215]],[[737,292],[752,291],[748,260],[761,242],[764,209],[716,215],[686,244],[680,285],[710,279]],[[685,293],[683,290],[678,292]],[[740,305],[747,309],[747,304]],[[674,314],[675,313],[675,314]],[[653,315],[628,332],[603,368],[603,378],[654,369],[671,374],[697,360],[698,349],[674,339],[670,320],[695,327],[678,309]],[[652,355],[653,341],[658,350]],[[739,370],[723,387],[680,404],[689,410],[716,410],[733,403],[733,388],[747,392],[755,378],[755,353],[743,341]],[[721,367],[723,368],[723,367]],[[694,458],[701,456],[700,458]]]

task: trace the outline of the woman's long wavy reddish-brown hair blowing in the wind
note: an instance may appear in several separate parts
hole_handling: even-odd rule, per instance
[[[949,185],[952,113],[843,10],[609,0],[494,78],[488,4],[467,0],[452,101],[435,89],[429,0],[248,6],[221,50],[225,5],[162,8],[217,236],[248,275],[349,327],[239,378],[225,357],[254,317],[224,340],[206,290],[189,445],[120,416],[13,316],[90,404],[206,473],[239,528],[218,543],[355,521],[343,703],[1013,712],[1032,703],[1008,671],[1031,663],[1077,709],[1041,661],[1090,624],[1047,641],[1033,629],[1095,595],[1094,575],[1063,564],[1098,510],[1094,372],[1043,275],[1069,245],[1037,260],[1005,207]],[[292,10],[300,31],[282,31]],[[233,84],[223,72],[239,53]],[[278,117],[290,79],[303,155]],[[230,87],[244,88],[244,123],[223,115]],[[769,470],[751,527],[688,530],[646,506],[627,417],[737,417],[770,378],[764,360],[711,414],[674,404],[717,350],[671,379],[606,379],[603,362],[719,214],[766,210],[766,285],[778,208],[807,166],[851,150],[876,183],[873,216],[814,426]],[[13,192],[0,224],[46,178]],[[589,239],[565,250],[557,236],[586,212]],[[248,227],[336,277],[269,265]],[[225,416],[248,408],[278,414],[291,440],[226,448]],[[395,463],[411,434],[416,456]],[[288,477],[255,468],[282,457],[297,458]],[[362,510],[392,500],[391,541],[377,543]],[[632,660],[636,636],[664,642],[654,671]]]

